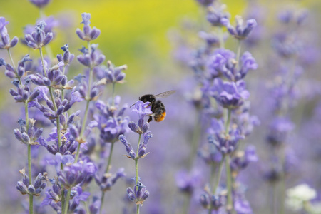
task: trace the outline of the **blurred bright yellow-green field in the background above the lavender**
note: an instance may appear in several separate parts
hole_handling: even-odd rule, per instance
[[[247,3],[245,0],[224,2],[228,4],[232,17],[240,13]],[[6,27],[11,38],[23,37],[24,26],[35,24],[39,19],[39,9],[27,0],[1,0],[0,4],[0,16],[9,21]],[[93,43],[99,44],[98,49],[103,51],[106,59],[116,66],[127,64],[128,86],[136,85],[141,78],[147,81],[161,73],[163,76],[173,73],[173,67],[170,66],[173,60],[170,56],[172,46],[168,39],[169,29],[179,28],[183,19],[204,21],[205,15],[205,11],[194,0],[52,0],[44,13],[59,21],[58,29],[55,29],[56,38],[50,43],[54,56],[62,53],[60,47],[66,43],[69,43],[71,53],[76,56],[80,54],[77,49],[81,45],[86,46],[75,33],[77,28],[83,27],[80,24],[83,12],[90,13],[91,26],[101,30],[101,36]],[[4,52],[1,56],[7,57]],[[38,51],[27,49],[20,43],[12,49],[12,53],[15,61],[27,53],[39,57]]]

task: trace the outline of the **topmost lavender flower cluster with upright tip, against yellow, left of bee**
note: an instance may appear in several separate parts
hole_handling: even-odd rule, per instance
[[[91,14],[83,13],[81,14],[81,17],[83,19],[83,21],[81,21],[81,23],[83,23],[83,31],[81,31],[81,29],[77,29],[76,34],[80,39],[85,41],[97,39],[97,37],[101,34],[101,30],[97,29],[96,27],[91,29],[91,26],[89,26],[89,24],[91,24]]]

